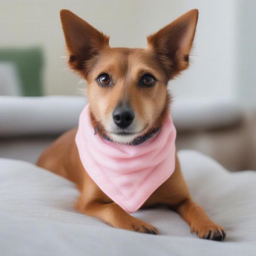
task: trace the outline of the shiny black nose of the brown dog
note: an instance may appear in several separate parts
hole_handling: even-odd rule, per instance
[[[121,128],[126,128],[134,119],[134,111],[132,111],[128,106],[117,107],[113,111],[113,119],[116,125]]]

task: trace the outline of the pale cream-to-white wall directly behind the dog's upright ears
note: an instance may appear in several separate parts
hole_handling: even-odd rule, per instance
[[[234,7],[232,0],[0,0],[0,47],[42,45],[45,93],[76,92],[79,78],[65,70],[60,9],[70,9],[111,36],[111,46],[145,47],[145,36],[188,11],[199,9],[189,70],[170,83],[186,96],[234,96]]]

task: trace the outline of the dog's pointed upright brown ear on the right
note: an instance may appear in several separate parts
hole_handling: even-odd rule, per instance
[[[193,9],[178,17],[158,32],[147,36],[169,79],[189,66],[189,52],[195,36],[198,10]]]

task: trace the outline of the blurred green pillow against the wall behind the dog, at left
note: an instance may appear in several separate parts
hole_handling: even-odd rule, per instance
[[[1,48],[0,61],[15,65],[23,96],[42,95],[43,52],[41,47]]]

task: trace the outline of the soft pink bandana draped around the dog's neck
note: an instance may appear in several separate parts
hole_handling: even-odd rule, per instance
[[[113,143],[94,135],[89,105],[80,114],[76,145],[84,169],[116,204],[135,212],[175,169],[176,129],[172,117],[139,145]]]

